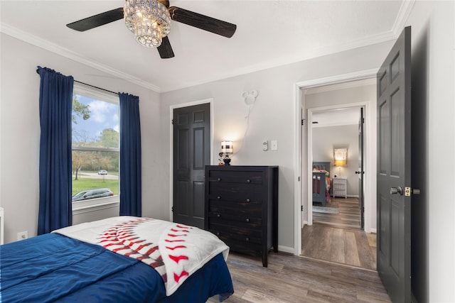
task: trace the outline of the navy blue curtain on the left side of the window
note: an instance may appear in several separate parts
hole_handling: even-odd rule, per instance
[[[38,235],[70,226],[71,114],[73,77],[38,67],[40,84],[40,168]]]

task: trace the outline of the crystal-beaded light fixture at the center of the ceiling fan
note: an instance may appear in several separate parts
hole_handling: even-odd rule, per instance
[[[127,0],[124,5],[125,25],[136,36],[137,43],[157,48],[171,31],[171,16],[157,0]]]

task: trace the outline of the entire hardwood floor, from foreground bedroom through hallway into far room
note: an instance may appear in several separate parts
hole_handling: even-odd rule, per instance
[[[235,293],[225,302],[391,302],[375,271],[376,236],[360,229],[356,200],[332,199],[338,216],[314,214],[318,223],[302,231],[302,256],[270,252],[264,268],[261,258],[230,252]]]

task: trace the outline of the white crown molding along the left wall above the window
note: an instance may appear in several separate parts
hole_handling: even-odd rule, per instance
[[[137,77],[133,77],[132,75],[128,75],[124,72],[121,72],[119,70],[116,70],[112,67],[109,67],[107,65],[102,65],[99,62],[96,62],[94,60],[90,60],[87,57],[84,57],[78,53],[73,52],[73,50],[69,50],[68,48],[62,48],[60,45],[56,45],[55,43],[52,43],[48,40],[42,39],[37,37],[36,35],[31,35],[30,33],[26,33],[25,31],[21,31],[18,28],[15,28],[13,26],[9,26],[6,23],[1,23],[0,27],[0,32],[1,33],[6,33],[6,35],[11,35],[11,37],[14,37],[18,40],[22,40],[26,43],[30,43],[31,45],[35,45],[38,48],[43,48],[44,50],[48,50],[52,53],[55,53],[57,55],[61,55],[63,57],[67,57],[70,60],[74,60],[76,62],[82,63],[83,65],[87,65],[90,67],[93,67],[97,70],[100,70],[102,72],[106,72],[109,75],[112,75],[114,77],[118,77],[120,79],[124,79],[128,82],[132,82],[134,84],[137,84],[141,87],[145,87],[146,89],[151,89],[154,92],[160,92],[159,87],[157,87],[154,84],[150,84],[148,82],[145,82]]]

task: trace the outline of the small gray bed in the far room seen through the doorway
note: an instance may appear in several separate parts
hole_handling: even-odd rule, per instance
[[[330,202],[330,162],[313,162],[313,203],[321,203],[326,206],[326,202]]]

